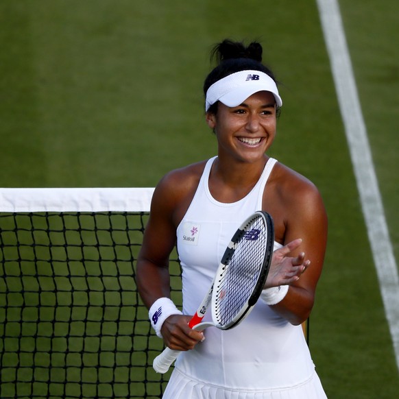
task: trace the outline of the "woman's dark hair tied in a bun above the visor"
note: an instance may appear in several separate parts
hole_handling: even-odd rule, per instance
[[[225,39],[215,45],[212,51],[210,51],[210,60],[212,62],[215,59],[217,66],[210,71],[205,79],[203,87],[205,97],[208,88],[212,84],[232,73],[247,69],[267,73],[276,82],[274,73],[262,63],[262,54],[262,45],[256,41],[246,46],[243,42],[234,42],[233,40]],[[218,103],[219,101],[210,106],[208,112],[216,114]]]

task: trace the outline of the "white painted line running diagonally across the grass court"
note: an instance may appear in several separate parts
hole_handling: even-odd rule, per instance
[[[337,0],[317,0],[380,291],[399,369],[399,278]]]

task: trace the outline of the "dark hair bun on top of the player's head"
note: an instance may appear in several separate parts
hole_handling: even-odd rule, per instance
[[[216,58],[219,63],[232,58],[251,58],[262,62],[262,52],[262,46],[258,42],[252,42],[250,45],[245,46],[242,42],[225,39],[214,47],[211,52],[211,58]]]

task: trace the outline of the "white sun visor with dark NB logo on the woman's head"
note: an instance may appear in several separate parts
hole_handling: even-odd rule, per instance
[[[269,91],[274,95],[278,107],[282,99],[278,95],[276,82],[267,73],[261,71],[240,71],[218,80],[206,92],[205,111],[221,101],[225,106],[237,107],[258,91]]]

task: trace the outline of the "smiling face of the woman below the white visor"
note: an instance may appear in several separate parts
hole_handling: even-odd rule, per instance
[[[248,97],[237,107],[219,102],[217,114],[206,114],[215,131],[219,156],[254,162],[263,157],[276,136],[276,101],[268,91]]]

